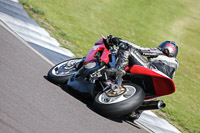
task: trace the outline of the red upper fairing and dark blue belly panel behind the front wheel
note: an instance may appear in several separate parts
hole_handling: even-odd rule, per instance
[[[68,86],[93,98],[95,83],[90,80],[91,74],[99,69],[102,70],[109,63],[109,54],[110,51],[105,47],[103,38],[98,40],[88,52],[83,67],[68,80]],[[95,57],[97,55],[100,56],[100,62]],[[90,65],[92,63],[96,63],[96,65]]]

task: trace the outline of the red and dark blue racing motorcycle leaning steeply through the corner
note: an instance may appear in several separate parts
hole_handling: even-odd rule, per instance
[[[155,99],[175,92],[173,80],[158,70],[138,65],[128,65],[122,76],[112,69],[116,65],[117,48],[108,46],[106,39],[102,36],[86,57],[52,67],[48,79],[89,97],[95,110],[106,117],[126,115],[135,120],[144,110],[164,108],[164,101]]]

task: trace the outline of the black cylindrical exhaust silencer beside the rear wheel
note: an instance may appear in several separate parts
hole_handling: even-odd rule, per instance
[[[164,101],[145,101],[137,110],[155,110],[155,109],[162,109],[166,106]]]

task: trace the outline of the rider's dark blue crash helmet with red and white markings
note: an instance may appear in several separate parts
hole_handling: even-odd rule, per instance
[[[165,41],[158,46],[158,49],[169,57],[176,57],[178,54],[178,46],[174,41]]]

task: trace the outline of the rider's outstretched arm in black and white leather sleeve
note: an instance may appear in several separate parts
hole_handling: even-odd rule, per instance
[[[121,40],[121,47],[132,47],[134,49],[136,49],[137,51],[139,51],[139,53],[143,56],[146,56],[146,57],[157,57],[158,55],[162,55],[162,51],[160,51],[159,49],[157,48],[144,48],[144,47],[141,47],[139,45],[136,45],[134,43],[131,43],[131,42],[128,42],[128,41],[125,41],[125,40]]]

